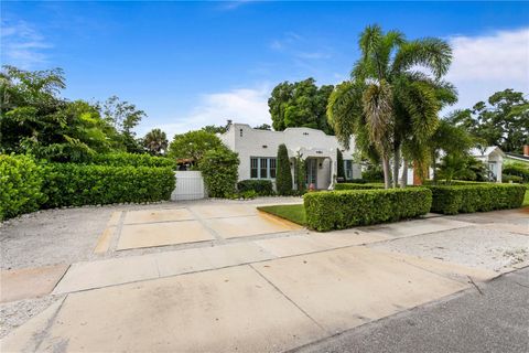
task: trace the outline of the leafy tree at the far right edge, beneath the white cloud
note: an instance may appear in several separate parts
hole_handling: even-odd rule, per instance
[[[520,152],[528,143],[529,100],[520,92],[505,89],[478,101],[472,109],[456,111],[450,121],[506,152]]]

